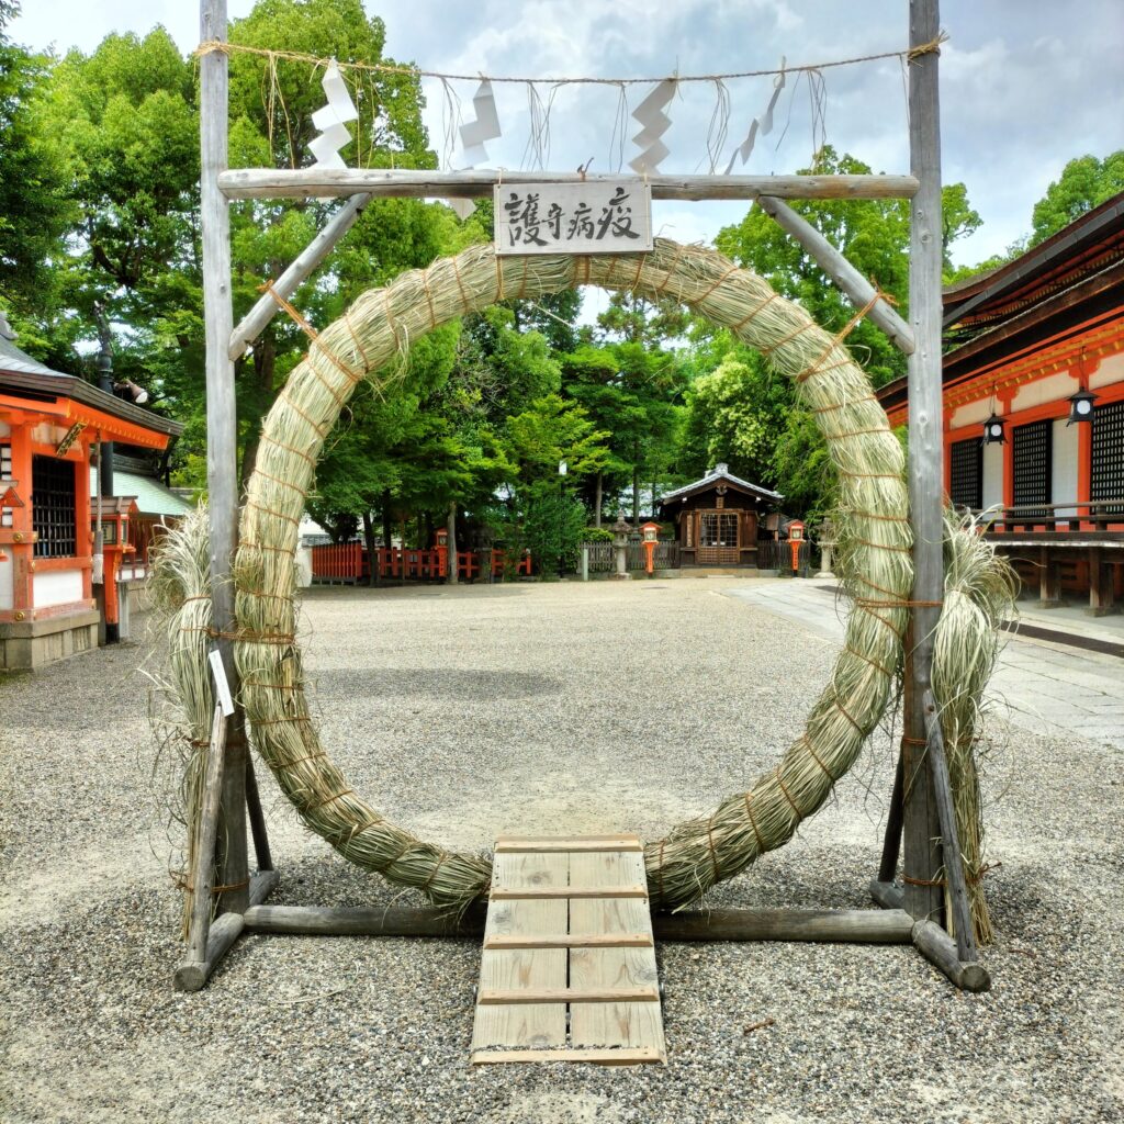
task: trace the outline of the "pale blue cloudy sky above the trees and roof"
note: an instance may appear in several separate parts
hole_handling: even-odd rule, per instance
[[[898,51],[906,44],[906,0],[364,0],[387,24],[387,51],[425,70],[489,75],[646,78],[720,74]],[[253,0],[229,0],[232,17]],[[24,0],[17,42],[63,52],[91,51],[110,31],[143,34],[160,22],[184,49],[198,42],[193,0]],[[1121,0],[944,0],[950,40],[941,57],[945,182],[963,181],[984,227],[954,247],[958,263],[1006,248],[1030,229],[1031,208],[1066,162],[1124,147],[1124,3]],[[901,67],[896,60],[823,72],[826,139],[876,171],[908,170]],[[473,82],[453,83],[471,117]],[[540,88],[544,96],[549,88]],[[732,80],[724,167],[769,99],[771,80]],[[426,83],[432,142],[441,149],[444,98]],[[629,87],[629,109],[647,92]],[[707,171],[707,136],[719,91],[691,83],[669,107],[671,155],[663,172]],[[489,145],[495,166],[525,166],[527,90],[497,87],[504,136]],[[550,116],[550,167],[615,171],[615,87],[564,87]],[[719,115],[720,117],[722,115]],[[773,133],[744,171],[791,172],[814,149],[807,81],[791,79]],[[636,130],[627,123],[627,135]],[[785,126],[787,125],[787,128]],[[619,135],[619,133],[618,133]],[[636,149],[626,143],[627,162]],[[454,157],[455,158],[455,157]],[[736,221],[744,203],[659,203],[659,233],[709,239]]]

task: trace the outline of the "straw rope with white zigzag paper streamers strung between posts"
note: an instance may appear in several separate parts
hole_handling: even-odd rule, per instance
[[[437,70],[425,70],[418,66],[405,66],[398,63],[337,62],[335,58],[320,58],[316,55],[294,51],[274,51],[266,47],[254,47],[246,44],[225,43],[216,39],[201,44],[194,52],[196,56],[221,52],[227,55],[251,55],[265,60],[271,73],[270,100],[275,102],[280,96],[275,80],[279,62],[307,64],[314,71],[323,70],[327,105],[314,115],[314,123],[320,130],[311,148],[317,158],[317,165],[323,167],[342,167],[339,149],[346,146],[352,137],[346,128],[347,123],[359,119],[354,101],[347,93],[346,78],[361,82],[371,75],[406,75],[415,79],[430,79],[441,85],[441,105],[443,107],[443,165],[452,169],[471,169],[489,165],[487,144],[497,140],[502,135],[499,111],[493,91],[495,84],[522,84],[527,91],[527,117],[529,119],[528,138],[524,146],[522,167],[545,169],[550,158],[551,114],[555,99],[564,87],[610,87],[617,91],[614,111],[613,135],[609,139],[607,164],[619,172],[625,163],[625,142],[628,119],[635,121],[637,132],[632,137],[636,154],[628,161],[628,166],[637,175],[656,174],[663,161],[671,155],[667,144],[667,134],[671,127],[670,107],[681,94],[685,87],[698,83],[709,83],[714,87],[714,106],[710,111],[709,126],[705,134],[706,153],[696,166],[705,165],[708,174],[716,174],[723,166],[724,152],[731,121],[734,116],[733,99],[727,83],[741,79],[772,78],[773,85],[770,96],[760,115],[752,118],[742,139],[728,153],[723,174],[729,175],[735,165],[743,166],[749,162],[760,137],[769,136],[773,130],[774,115],[782,92],[791,91],[788,121],[780,133],[777,146],[785,139],[791,121],[796,93],[801,82],[807,83],[810,119],[813,162],[818,158],[826,142],[826,80],[824,72],[863,63],[898,60],[903,67],[923,55],[939,53],[946,36],[942,33],[930,43],[898,51],[885,51],[850,58],[832,60],[821,63],[799,63],[788,65],[781,60],[780,66],[746,71],[731,71],[714,74],[670,74],[658,78],[591,78],[586,75],[562,78],[525,78],[513,75],[464,74]],[[454,83],[477,83],[472,94],[471,116],[462,112],[462,100]],[[628,90],[637,85],[650,85],[652,89],[640,101],[634,110],[629,109]],[[291,132],[291,130],[290,130]],[[272,137],[271,137],[272,142]],[[291,137],[290,137],[291,142]],[[459,142],[459,143],[457,143]],[[369,145],[369,155],[373,148]],[[362,160],[362,156],[360,157]],[[588,165],[587,165],[588,166]],[[469,200],[454,201],[454,210],[464,218],[474,205]]]

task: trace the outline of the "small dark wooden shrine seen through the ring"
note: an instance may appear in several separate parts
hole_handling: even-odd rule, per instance
[[[758,528],[783,496],[716,464],[701,480],[660,500],[660,518],[674,522],[683,566],[755,566]]]

